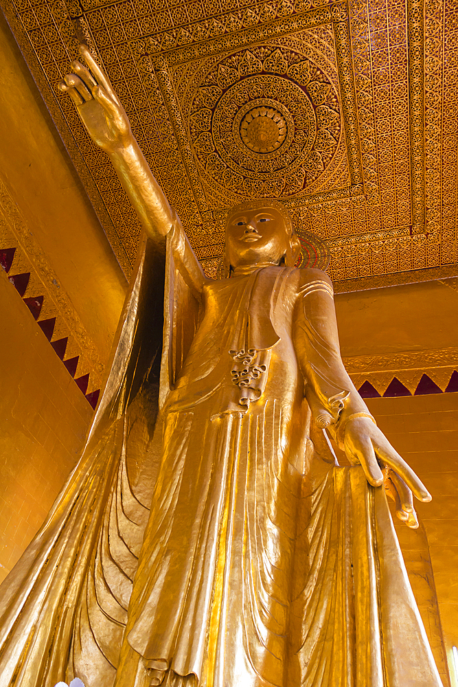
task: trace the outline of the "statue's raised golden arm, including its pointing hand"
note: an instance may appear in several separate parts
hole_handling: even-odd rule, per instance
[[[205,279],[202,268],[135,140],[124,107],[86,45],[80,45],[80,54],[87,67],[73,62],[73,74],[60,82],[60,90],[69,94],[93,142],[109,155],[146,234],[164,251],[165,236],[173,227],[177,266],[198,291]]]

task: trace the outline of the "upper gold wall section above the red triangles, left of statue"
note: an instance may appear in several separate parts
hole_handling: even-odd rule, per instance
[[[70,306],[62,317],[70,328],[78,317],[103,364],[126,278],[1,12],[0,63],[0,208],[8,214],[11,203],[17,206],[21,221],[13,218],[12,229],[45,282],[45,293],[55,300],[56,292],[67,294]],[[32,251],[27,240],[34,241]],[[54,281],[47,278],[49,269]]]

